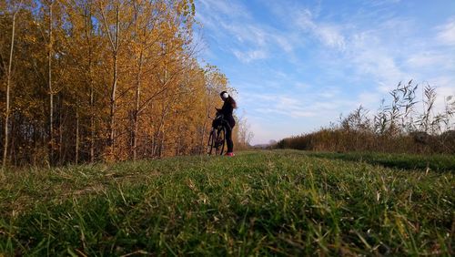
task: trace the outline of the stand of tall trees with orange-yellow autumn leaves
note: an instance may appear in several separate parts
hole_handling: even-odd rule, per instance
[[[0,2],[3,164],[204,151],[227,77],[197,62],[193,0]]]

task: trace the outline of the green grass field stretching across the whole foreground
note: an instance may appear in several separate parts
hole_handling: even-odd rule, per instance
[[[0,256],[452,255],[454,167],[277,150],[10,170]]]

